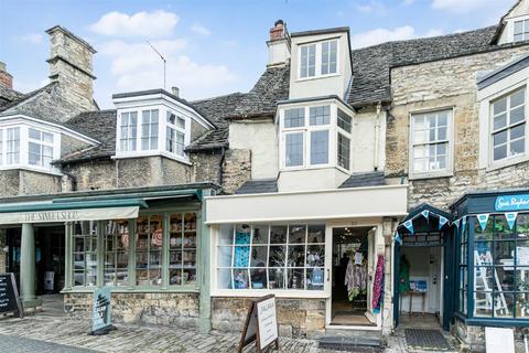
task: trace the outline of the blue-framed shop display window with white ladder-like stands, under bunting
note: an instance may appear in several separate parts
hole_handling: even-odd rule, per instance
[[[475,217],[468,224],[460,236],[458,311],[476,319],[529,319],[529,214],[519,214],[512,228],[504,215],[490,215],[484,228]]]

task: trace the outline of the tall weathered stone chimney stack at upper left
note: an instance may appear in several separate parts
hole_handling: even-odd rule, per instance
[[[94,103],[94,47],[68,30],[55,25],[50,35],[50,79],[60,83],[63,98],[83,110],[97,109]]]

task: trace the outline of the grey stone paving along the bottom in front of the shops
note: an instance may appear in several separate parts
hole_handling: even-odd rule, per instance
[[[90,329],[88,320],[46,315],[25,317],[24,319],[0,318],[0,352],[231,353],[237,352],[240,339],[238,334],[234,333],[202,334],[196,331],[168,327],[117,324],[117,328],[118,330],[111,331],[107,335],[93,336],[88,335]],[[24,350],[6,350],[6,344],[9,347],[20,347],[22,344]],[[406,339],[400,332],[390,336],[388,344],[386,353],[420,352],[409,350]],[[255,347],[247,347],[245,353],[255,351]],[[269,352],[274,351],[270,350]],[[280,352],[337,353],[346,351],[320,350],[317,341],[313,340],[281,338]]]

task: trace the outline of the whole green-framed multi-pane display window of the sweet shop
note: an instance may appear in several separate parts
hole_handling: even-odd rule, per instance
[[[76,222],[72,232],[74,287],[161,289],[196,284],[196,212]]]

